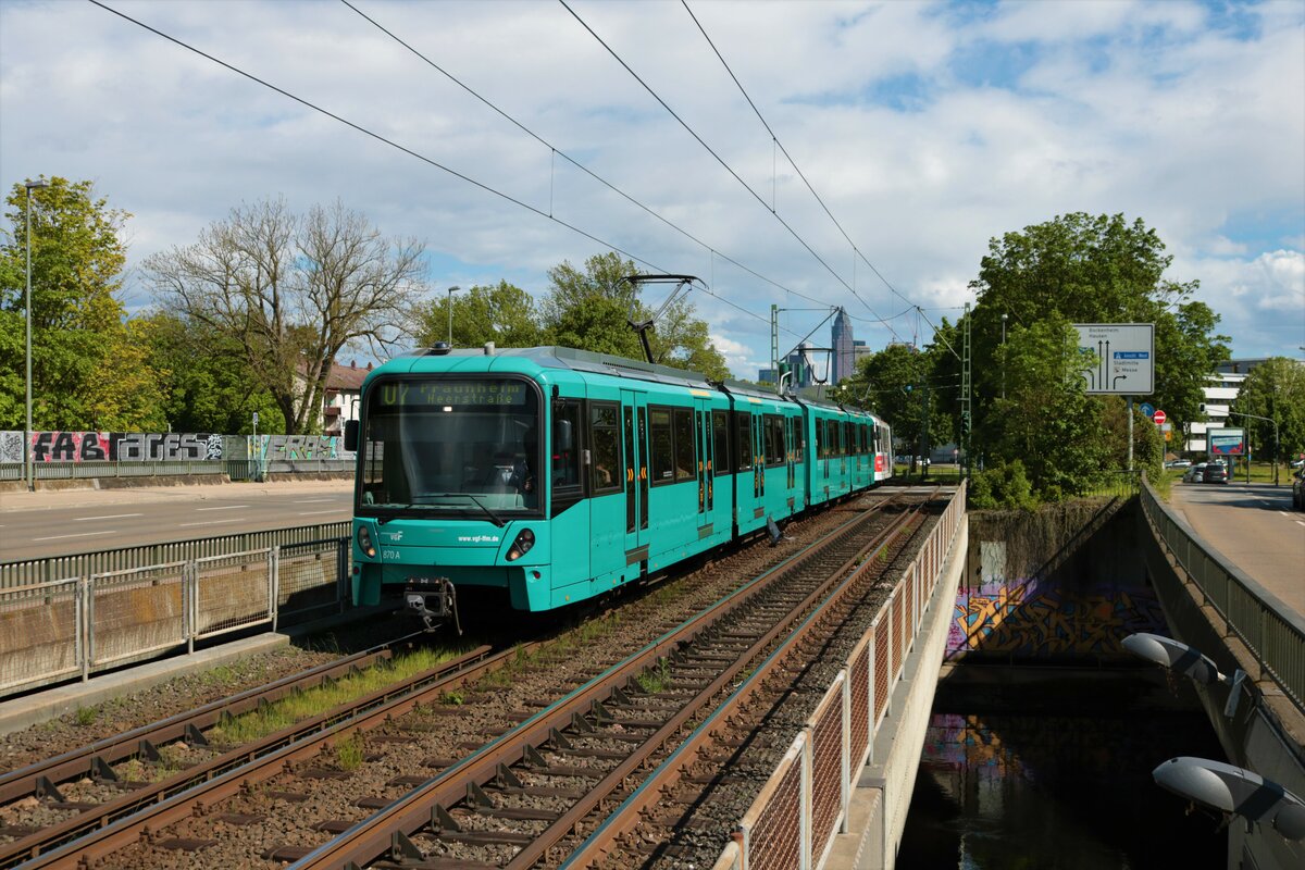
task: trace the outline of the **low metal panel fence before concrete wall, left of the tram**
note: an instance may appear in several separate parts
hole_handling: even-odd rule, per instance
[[[341,612],[348,553],[347,536],[318,536],[0,588],[0,693]]]

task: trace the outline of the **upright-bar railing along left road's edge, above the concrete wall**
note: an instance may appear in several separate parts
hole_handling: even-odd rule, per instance
[[[317,526],[219,535],[217,537],[201,537],[191,541],[123,547],[91,553],[77,553],[74,556],[52,556],[3,562],[0,563],[0,590],[51,583],[54,580],[78,577],[93,577],[112,571],[128,571],[163,562],[188,562],[210,556],[226,556],[228,553],[268,549],[271,547],[288,547],[326,539],[347,539],[351,528],[351,520],[341,520],[335,523],[320,523]]]

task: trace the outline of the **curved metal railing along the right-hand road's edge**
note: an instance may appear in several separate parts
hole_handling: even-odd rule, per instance
[[[1305,713],[1305,618],[1202,543],[1156,497],[1150,481],[1142,485],[1142,510],[1156,537],[1201,590],[1205,603],[1246,644],[1259,668],[1296,710]]]

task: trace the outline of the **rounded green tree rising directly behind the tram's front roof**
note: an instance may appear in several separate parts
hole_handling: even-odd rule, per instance
[[[475,286],[465,293],[436,295],[418,305],[418,343],[429,347],[449,338],[449,304],[453,304],[453,346],[535,347],[543,342],[535,300],[519,287],[500,280],[493,287]]]

